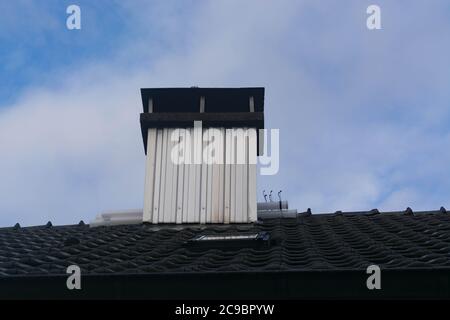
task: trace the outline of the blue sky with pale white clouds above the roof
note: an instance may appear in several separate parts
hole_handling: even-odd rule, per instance
[[[142,208],[142,87],[265,87],[280,170],[258,177],[259,201],[450,208],[446,0],[18,0],[0,15],[0,226]]]

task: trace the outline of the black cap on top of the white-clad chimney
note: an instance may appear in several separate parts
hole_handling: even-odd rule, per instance
[[[264,88],[143,88],[144,112],[140,115],[142,140],[147,154],[150,128],[202,126],[264,129]],[[257,152],[259,136],[257,136]]]

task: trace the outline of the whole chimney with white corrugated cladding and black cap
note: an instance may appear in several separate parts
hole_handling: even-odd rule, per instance
[[[256,221],[264,88],[155,88],[141,96],[143,221]]]

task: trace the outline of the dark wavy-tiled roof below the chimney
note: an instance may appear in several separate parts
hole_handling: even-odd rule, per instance
[[[255,232],[268,233],[267,245],[197,248],[189,244],[204,234]],[[66,268],[72,264],[83,275],[131,277],[355,271],[365,277],[366,268],[376,264],[388,271],[445,272],[449,290],[450,214],[443,208],[420,213],[410,209],[305,212],[246,225],[89,228],[81,223],[0,229],[0,281],[67,276]]]

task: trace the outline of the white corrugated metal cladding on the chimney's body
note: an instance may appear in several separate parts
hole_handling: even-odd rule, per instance
[[[257,220],[256,129],[151,128],[147,143],[144,221]]]

